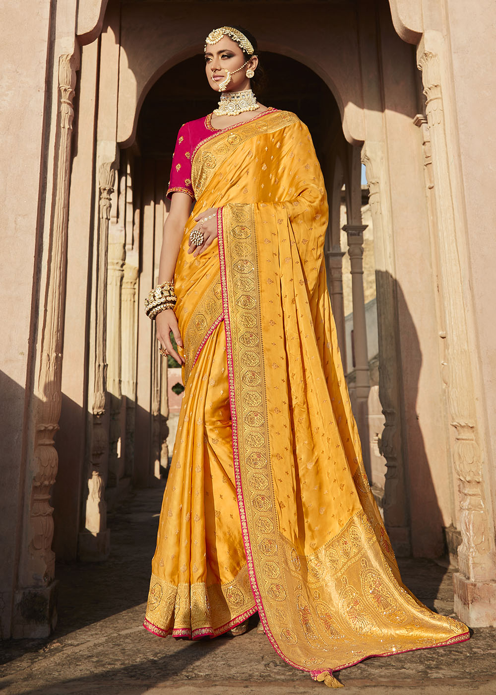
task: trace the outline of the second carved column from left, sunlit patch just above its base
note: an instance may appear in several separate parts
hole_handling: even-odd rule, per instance
[[[108,475],[107,404],[107,249],[114,164],[99,167],[99,224],[97,240],[96,325],[94,336],[94,387],[90,418],[90,470],[85,509],[85,530],[79,536],[79,555],[86,561],[106,559],[110,550],[105,486]]]

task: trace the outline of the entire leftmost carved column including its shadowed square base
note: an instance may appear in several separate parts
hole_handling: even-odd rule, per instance
[[[74,88],[78,54],[58,60],[58,123],[56,178],[52,191],[52,222],[47,275],[40,288],[40,359],[33,401],[34,442],[29,456],[31,490],[26,489],[28,525],[19,557],[19,589],[15,594],[13,637],[47,637],[56,626],[55,555],[51,486],[55,482],[58,455],[53,436],[58,430],[61,404],[63,320],[67,264],[67,214],[71,166]]]

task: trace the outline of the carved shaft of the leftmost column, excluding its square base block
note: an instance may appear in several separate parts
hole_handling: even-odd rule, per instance
[[[23,568],[22,584],[45,587],[53,580],[55,555],[53,509],[50,506],[51,486],[55,482],[58,455],[53,436],[58,430],[61,404],[63,318],[65,274],[67,263],[67,214],[71,162],[72,121],[74,118],[74,87],[77,56],[63,54],[58,61],[58,133],[56,179],[53,183],[53,218],[46,285],[40,315],[44,314],[40,347],[40,368],[35,383],[35,441],[33,452],[33,485],[30,508],[30,543]]]

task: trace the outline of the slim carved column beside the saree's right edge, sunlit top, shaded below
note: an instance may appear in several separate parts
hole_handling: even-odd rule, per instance
[[[392,220],[385,193],[387,174],[383,169],[382,148],[381,142],[367,142],[362,151],[370,190],[369,203],[376,250],[379,400],[385,418],[379,451],[386,459],[384,521],[395,553],[408,557],[411,555],[411,541],[400,414],[397,291],[395,278],[389,270],[394,263],[390,229]]]

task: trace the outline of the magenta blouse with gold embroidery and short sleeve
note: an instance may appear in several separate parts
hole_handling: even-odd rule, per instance
[[[199,142],[216,132],[215,128],[210,126],[210,114],[207,117],[197,118],[195,121],[188,121],[181,126],[172,156],[170,181],[167,188],[168,198],[178,190],[181,193],[188,193],[192,199],[195,199],[195,191],[191,183],[192,154]]]

